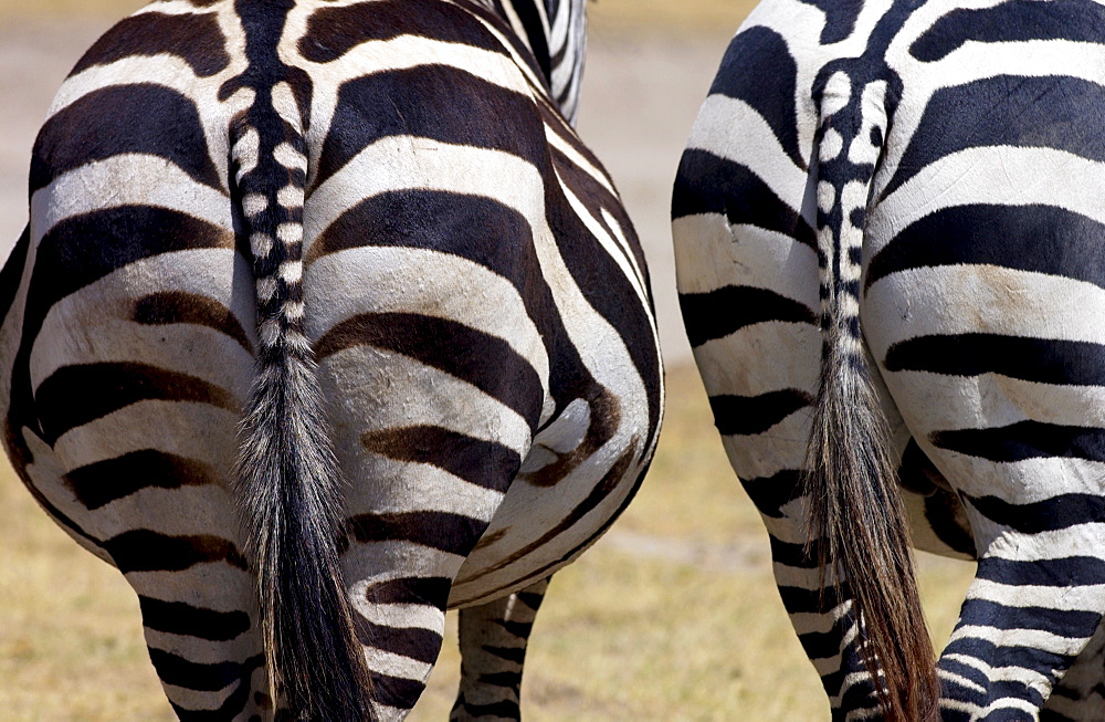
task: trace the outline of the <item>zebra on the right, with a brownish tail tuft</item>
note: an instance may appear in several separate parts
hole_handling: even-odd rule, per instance
[[[1103,115],[1088,0],[764,0],[725,53],[680,302],[834,720],[1105,719]],[[977,561],[935,665],[911,527]]]

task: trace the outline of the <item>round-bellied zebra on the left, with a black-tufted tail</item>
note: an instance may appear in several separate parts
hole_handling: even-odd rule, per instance
[[[571,127],[583,0],[161,0],[35,142],[0,418],[181,720],[519,719],[549,577],[662,421],[641,247]]]

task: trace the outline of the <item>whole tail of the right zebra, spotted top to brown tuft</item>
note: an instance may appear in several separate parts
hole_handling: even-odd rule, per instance
[[[884,719],[917,722],[938,719],[933,715],[939,683],[888,426],[871,383],[860,327],[863,233],[886,111],[882,94],[872,98],[865,91],[862,103],[838,103],[828,113],[832,82],[821,104],[819,144],[822,353],[806,460],[810,546],[818,550],[822,604],[830,565],[850,592],[842,597],[854,605],[860,653]],[[838,91],[835,97],[841,95]]]

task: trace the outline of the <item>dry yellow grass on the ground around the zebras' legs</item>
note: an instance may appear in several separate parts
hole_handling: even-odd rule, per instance
[[[670,374],[653,471],[593,550],[559,573],[537,619],[530,722],[828,720],[771,580],[767,537],[733,477],[693,369]],[[0,474],[0,710],[11,722],[170,720],[123,578]],[[920,555],[934,635],[970,565]],[[448,718],[455,617],[414,722]]]

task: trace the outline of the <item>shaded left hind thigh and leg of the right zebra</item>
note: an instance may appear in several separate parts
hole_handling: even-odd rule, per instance
[[[845,693],[851,707],[874,707],[852,643],[851,601],[831,574],[821,599],[817,551],[804,548],[809,522],[799,477],[821,358],[817,252],[783,233],[729,226],[724,216],[675,223],[677,237],[704,241],[676,244],[680,301],[714,422],[771,537],[791,624],[834,709]]]

